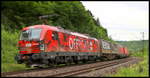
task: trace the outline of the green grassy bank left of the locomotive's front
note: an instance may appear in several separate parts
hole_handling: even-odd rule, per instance
[[[10,72],[26,69],[24,64],[17,64],[14,56],[18,52],[17,42],[19,39],[19,32],[8,32],[2,30],[2,49],[1,49],[1,72]]]

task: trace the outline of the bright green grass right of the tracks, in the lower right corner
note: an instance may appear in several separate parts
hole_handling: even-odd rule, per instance
[[[149,76],[149,64],[148,64],[148,49],[144,49],[143,52],[132,53],[131,56],[136,56],[143,58],[144,60],[138,64],[131,65],[130,67],[121,67],[118,69],[117,73],[114,75],[109,75],[111,77],[148,77]]]

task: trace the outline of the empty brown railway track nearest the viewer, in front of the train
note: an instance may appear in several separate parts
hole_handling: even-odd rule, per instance
[[[55,74],[55,75],[49,75],[50,77],[71,77],[71,76],[76,76],[82,73],[87,73],[90,71],[95,71],[95,70],[99,70],[99,69],[104,69],[110,66],[115,66],[118,64],[122,64],[122,63],[126,63],[129,62],[129,60],[132,60],[133,58],[129,58],[129,59],[121,59],[121,60],[115,60],[113,62],[108,62],[108,63],[103,63],[100,65],[94,65],[92,67],[89,68],[83,68],[83,69],[79,69],[79,70],[75,70],[75,71],[70,71],[70,72],[65,72],[65,73],[59,73],[59,74]],[[134,60],[136,61],[136,60]],[[48,77],[49,77],[48,76]]]

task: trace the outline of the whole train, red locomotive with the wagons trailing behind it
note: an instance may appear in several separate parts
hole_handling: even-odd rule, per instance
[[[97,40],[60,27],[34,25],[22,29],[18,42],[19,54],[15,57],[19,64],[27,66],[78,63],[106,57],[107,54],[128,55],[127,49],[102,39]],[[123,52],[123,53],[122,53]],[[107,57],[109,58],[109,57]]]

